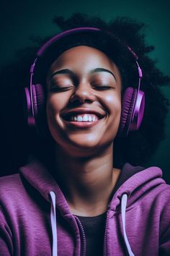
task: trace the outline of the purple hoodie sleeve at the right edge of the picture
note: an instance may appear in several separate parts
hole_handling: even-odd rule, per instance
[[[159,240],[159,255],[169,256],[170,255],[170,186],[164,193],[164,208],[160,218],[160,231],[161,236]]]

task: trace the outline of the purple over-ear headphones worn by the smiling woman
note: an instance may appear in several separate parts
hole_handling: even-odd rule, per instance
[[[78,27],[71,30],[66,30],[63,33],[55,35],[53,38],[50,38],[38,51],[37,58],[33,62],[30,68],[30,88],[24,88],[26,96],[26,105],[27,105],[27,123],[30,126],[35,126],[37,131],[40,132],[42,122],[45,121],[45,93],[43,92],[43,87],[40,84],[34,85],[32,83],[35,64],[38,59],[44,54],[46,49],[53,45],[57,40],[71,35],[74,33],[86,31],[102,31],[97,27]],[[145,94],[140,90],[140,81],[143,77],[142,70],[138,64],[138,56],[133,52],[129,47],[128,51],[135,58],[135,63],[138,67],[138,88],[128,87],[125,90],[125,93],[122,97],[122,113],[120,119],[119,135],[127,136],[129,131],[138,130],[140,124],[143,120],[143,113],[145,108]],[[40,124],[41,120],[41,124]],[[43,120],[43,121],[42,121]]]

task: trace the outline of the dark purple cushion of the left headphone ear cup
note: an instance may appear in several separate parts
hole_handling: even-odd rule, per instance
[[[35,115],[35,127],[39,134],[45,129],[46,115],[45,115],[45,93],[42,85],[32,85],[32,103]]]

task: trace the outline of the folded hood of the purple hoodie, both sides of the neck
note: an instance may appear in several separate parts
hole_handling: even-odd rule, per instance
[[[151,189],[158,184],[165,183],[164,179],[161,179],[162,171],[158,167],[150,167],[142,170],[142,167],[140,166],[131,166],[130,163],[125,163],[122,167],[122,174],[125,174],[128,170],[131,170],[132,176],[129,177],[127,175],[125,182],[118,187],[109,203],[110,210],[115,211],[120,208],[120,201],[123,194],[128,195],[128,208],[130,205],[133,206],[133,203],[138,200],[143,193],[147,192],[148,189]],[[48,171],[48,169],[42,165],[37,158],[31,157],[27,166],[21,167],[19,171],[22,176],[24,176],[24,179],[26,179],[32,187],[37,189],[42,197],[44,197],[48,202],[51,201],[50,191],[55,192],[57,208],[61,210],[63,215],[71,214],[68,202],[66,201],[66,197],[63,195],[61,188],[50,174],[50,171]]]

